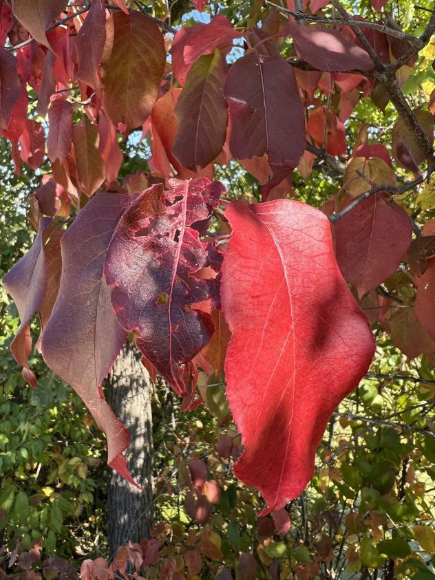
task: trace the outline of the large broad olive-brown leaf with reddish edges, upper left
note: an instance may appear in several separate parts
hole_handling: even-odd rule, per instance
[[[122,133],[151,114],[165,62],[163,36],[151,19],[138,12],[110,16],[101,63],[103,107]]]

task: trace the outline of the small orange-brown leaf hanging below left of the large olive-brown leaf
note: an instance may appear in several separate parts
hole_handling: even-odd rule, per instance
[[[98,127],[84,118],[72,130],[78,183],[88,197],[103,183],[105,164],[98,152]]]

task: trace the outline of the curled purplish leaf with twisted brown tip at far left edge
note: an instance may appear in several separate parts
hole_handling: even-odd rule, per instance
[[[24,367],[25,380],[32,387],[36,387],[36,376],[28,366],[28,358],[32,350],[30,321],[41,306],[47,288],[43,233],[51,223],[50,217],[41,219],[32,247],[3,278],[6,290],[17,305],[21,321],[17,336],[10,345],[10,350],[17,363]]]

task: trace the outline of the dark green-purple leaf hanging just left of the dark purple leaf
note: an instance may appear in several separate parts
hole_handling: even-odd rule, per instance
[[[224,84],[227,66],[219,49],[200,56],[187,75],[178,99],[178,131],[172,152],[191,171],[211,163],[224,147],[226,103]]]

